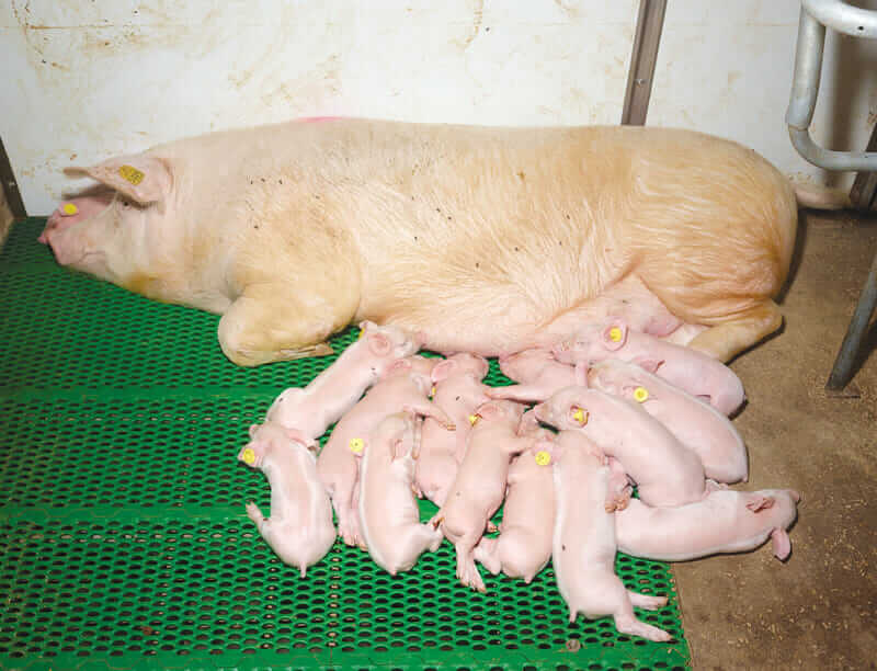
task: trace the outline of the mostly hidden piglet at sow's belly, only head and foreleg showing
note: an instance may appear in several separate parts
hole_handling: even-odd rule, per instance
[[[576,369],[557,361],[547,349],[524,350],[503,356],[500,359],[500,371],[521,384],[492,387],[488,391],[491,398],[538,402],[555,391],[576,384]]]

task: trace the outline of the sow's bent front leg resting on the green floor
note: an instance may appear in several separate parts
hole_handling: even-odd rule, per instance
[[[331,354],[327,338],[350,322],[355,307],[328,297],[305,306],[297,295],[282,284],[248,286],[219,320],[225,355],[239,366],[258,366]]]

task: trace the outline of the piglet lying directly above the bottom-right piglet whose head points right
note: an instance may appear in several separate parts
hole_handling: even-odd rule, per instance
[[[706,494],[704,466],[638,405],[585,387],[567,387],[534,408],[539,421],[581,431],[618,459],[649,505],[682,505]]]

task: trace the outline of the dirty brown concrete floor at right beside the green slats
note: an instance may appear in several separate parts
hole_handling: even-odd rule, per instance
[[[823,386],[877,252],[877,217],[802,212],[782,333],[731,365],[749,402],[738,489],[802,501],[786,564],[755,553],[673,567],[694,669],[877,668],[877,325],[853,384]]]

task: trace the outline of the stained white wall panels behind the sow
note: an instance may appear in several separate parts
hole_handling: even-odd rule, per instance
[[[79,185],[60,172],[70,163],[296,116],[616,124],[637,7],[0,0],[0,135],[39,215]],[[797,15],[794,0],[670,0],[648,123],[731,137],[818,177],[783,122]],[[864,147],[877,45],[852,42],[827,47],[815,135]]]

